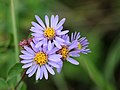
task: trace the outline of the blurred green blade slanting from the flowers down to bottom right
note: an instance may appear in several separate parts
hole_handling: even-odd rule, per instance
[[[88,72],[90,78],[101,90],[115,90],[114,86],[105,80],[104,76],[90,59],[83,56],[76,59],[80,59],[79,61],[82,67]]]

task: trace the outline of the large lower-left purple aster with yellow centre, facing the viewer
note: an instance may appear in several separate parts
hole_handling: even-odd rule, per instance
[[[53,67],[59,68],[58,62],[61,61],[61,55],[56,54],[58,50],[54,45],[51,45],[51,50],[48,50],[48,46],[35,47],[37,43],[34,39],[30,42],[30,47],[24,46],[24,50],[21,50],[22,55],[20,55],[21,63],[24,65],[22,68],[28,68],[26,74],[31,77],[36,73],[36,80],[48,79],[48,72],[52,75],[55,74]]]

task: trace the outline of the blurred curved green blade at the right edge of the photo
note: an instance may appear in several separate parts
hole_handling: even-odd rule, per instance
[[[118,39],[118,36],[116,39]],[[113,41],[107,55],[105,64],[105,77],[107,80],[113,79],[114,69],[119,64],[120,60],[120,39]]]

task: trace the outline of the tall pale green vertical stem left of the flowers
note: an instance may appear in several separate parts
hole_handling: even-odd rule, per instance
[[[12,27],[13,27],[13,37],[14,37],[14,46],[15,46],[15,56],[16,62],[19,62],[19,49],[18,49],[18,39],[17,39],[17,28],[16,28],[16,20],[15,20],[15,8],[14,8],[14,1],[10,0],[11,2],[11,18],[12,18]]]

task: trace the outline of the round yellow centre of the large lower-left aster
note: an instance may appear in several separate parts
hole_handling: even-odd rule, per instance
[[[36,61],[36,63],[38,63],[40,65],[46,64],[48,62],[47,55],[45,53],[43,53],[43,52],[38,52],[35,55],[34,60]]]

